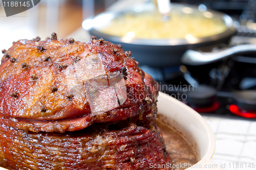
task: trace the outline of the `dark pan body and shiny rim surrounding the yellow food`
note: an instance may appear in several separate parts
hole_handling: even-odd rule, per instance
[[[138,8],[138,6],[136,6]],[[154,10],[154,4],[143,5],[144,11]],[[182,4],[172,3],[172,9],[182,11],[183,8],[190,8],[194,15],[203,15],[195,6],[187,6]],[[141,12],[141,11],[140,11]],[[104,34],[99,30],[100,27],[107,25],[109,21],[117,16],[133,13],[136,14],[135,7],[128,9],[118,9],[115,11],[103,12],[94,18],[86,19],[82,23],[82,27],[89,31],[91,35],[104,40],[111,41],[115,44],[122,44],[125,51],[132,51],[133,57],[140,65],[148,65],[153,67],[169,67],[181,64],[181,56],[186,50],[194,50],[195,48],[213,45],[221,42],[227,42],[230,37],[236,33],[236,28],[233,26],[233,19],[224,14],[213,10],[207,10],[214,18],[220,18],[227,26],[227,30],[221,34],[194,38],[193,41],[189,39],[124,39],[123,37],[116,37]]]

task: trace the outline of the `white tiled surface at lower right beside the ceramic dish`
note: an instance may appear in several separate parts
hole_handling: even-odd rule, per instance
[[[212,157],[213,162],[225,165],[225,169],[256,169],[256,122],[203,117],[215,133],[216,151]],[[252,163],[255,167],[248,167]]]

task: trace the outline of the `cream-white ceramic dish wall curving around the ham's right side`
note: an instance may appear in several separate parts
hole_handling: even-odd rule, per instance
[[[162,92],[159,93],[157,108],[164,115],[164,121],[180,131],[198,155],[199,162],[187,169],[224,170],[211,161],[216,148],[215,137],[199,113]]]

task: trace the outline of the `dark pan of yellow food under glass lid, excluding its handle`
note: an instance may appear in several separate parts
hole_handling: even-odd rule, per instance
[[[221,12],[197,6],[170,4],[162,19],[154,3],[103,12],[83,21],[90,34],[121,44],[140,65],[180,65],[186,50],[227,42],[236,33],[234,20]]]

